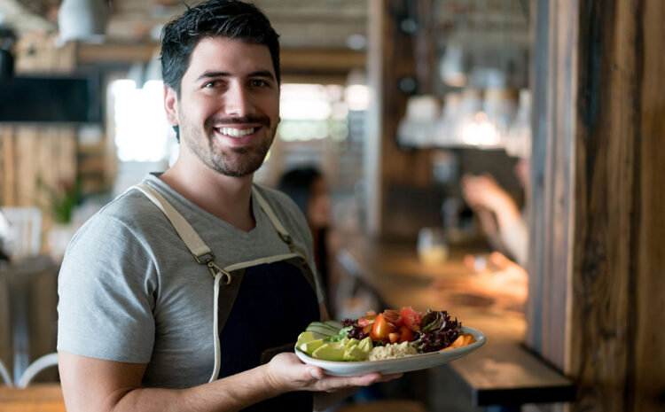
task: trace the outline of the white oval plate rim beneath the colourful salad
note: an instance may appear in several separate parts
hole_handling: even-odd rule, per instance
[[[357,377],[372,372],[382,374],[409,372],[411,370],[434,368],[450,361],[455,361],[474,350],[483,346],[487,341],[485,335],[480,330],[475,330],[467,326],[462,326],[463,333],[471,333],[475,342],[471,345],[449,349],[446,351],[431,352],[429,354],[414,354],[397,359],[387,359],[385,361],[321,361],[305,354],[297,347],[295,354],[301,361],[309,365],[318,366],[325,370],[328,375],[336,377]]]

